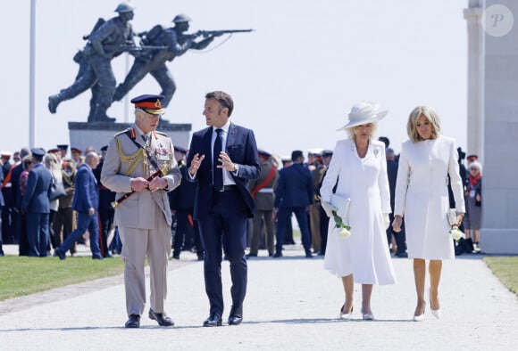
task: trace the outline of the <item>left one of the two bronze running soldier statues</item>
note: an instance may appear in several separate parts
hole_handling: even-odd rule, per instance
[[[115,9],[119,15],[107,20],[88,37],[82,55],[88,61],[87,69],[75,82],[63,89],[59,94],[48,98],[48,110],[55,113],[58,105],[96,86],[96,102],[92,103],[88,122],[113,122],[115,118],[109,118],[106,111],[112,104],[113,93],[117,82],[113,75],[113,58],[124,53],[123,45],[134,45],[133,29],[129,24],[134,17],[134,8],[126,3],[121,3]]]

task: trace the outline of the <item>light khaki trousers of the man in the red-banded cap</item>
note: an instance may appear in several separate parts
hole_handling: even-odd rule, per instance
[[[167,265],[171,255],[171,226],[165,221],[160,209],[156,210],[155,214],[155,229],[138,229],[119,225],[128,315],[144,313],[146,257],[150,271],[151,308],[159,314],[164,312],[163,305],[167,295]]]

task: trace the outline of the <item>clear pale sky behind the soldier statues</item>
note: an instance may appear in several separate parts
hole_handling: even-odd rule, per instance
[[[29,144],[29,0],[10,2],[0,30],[4,102],[0,150]],[[63,102],[57,114],[47,98],[69,86],[78,66],[72,56],[98,17],[119,4],[107,0],[37,0],[36,146],[69,143],[68,121],[86,121],[90,93]],[[399,151],[406,119],[417,104],[438,111],[445,135],[465,149],[467,30],[463,0],[134,0],[133,28],[171,25],[181,12],[191,29],[255,29],[234,35],[206,53],[189,52],[169,63],[178,90],[166,112],[171,122],[205,127],[204,95],[234,97],[234,123],[255,130],[265,150],[332,149],[351,105],[380,102],[389,112],[379,125]],[[215,46],[215,45],[213,45]],[[132,60],[132,59],[129,59]],[[129,61],[130,62],[130,61]],[[125,57],[113,61],[119,81]],[[158,93],[153,78],[130,96]],[[124,103],[108,114],[126,121]],[[130,110],[131,111],[131,110]],[[133,117],[130,116],[129,120]],[[174,142],[174,141],[173,141]],[[188,145],[181,145],[188,146]]]

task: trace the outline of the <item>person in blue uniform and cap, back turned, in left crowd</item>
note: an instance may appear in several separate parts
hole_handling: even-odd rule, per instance
[[[43,165],[45,150],[33,148],[33,168],[29,171],[27,185],[21,200],[21,213],[27,218],[29,257],[46,257],[49,245],[48,216],[52,174]]]

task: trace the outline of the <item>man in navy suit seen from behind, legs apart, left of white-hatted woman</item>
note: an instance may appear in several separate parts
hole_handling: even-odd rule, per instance
[[[286,224],[295,213],[302,236],[302,245],[305,249],[305,257],[313,257],[311,253],[311,234],[307,211],[313,204],[313,176],[304,166],[304,153],[296,150],[291,152],[293,165],[282,168],[279,172],[279,183],[275,189],[275,202],[273,212],[277,213],[277,237],[275,254],[273,257],[282,256],[282,243]]]

